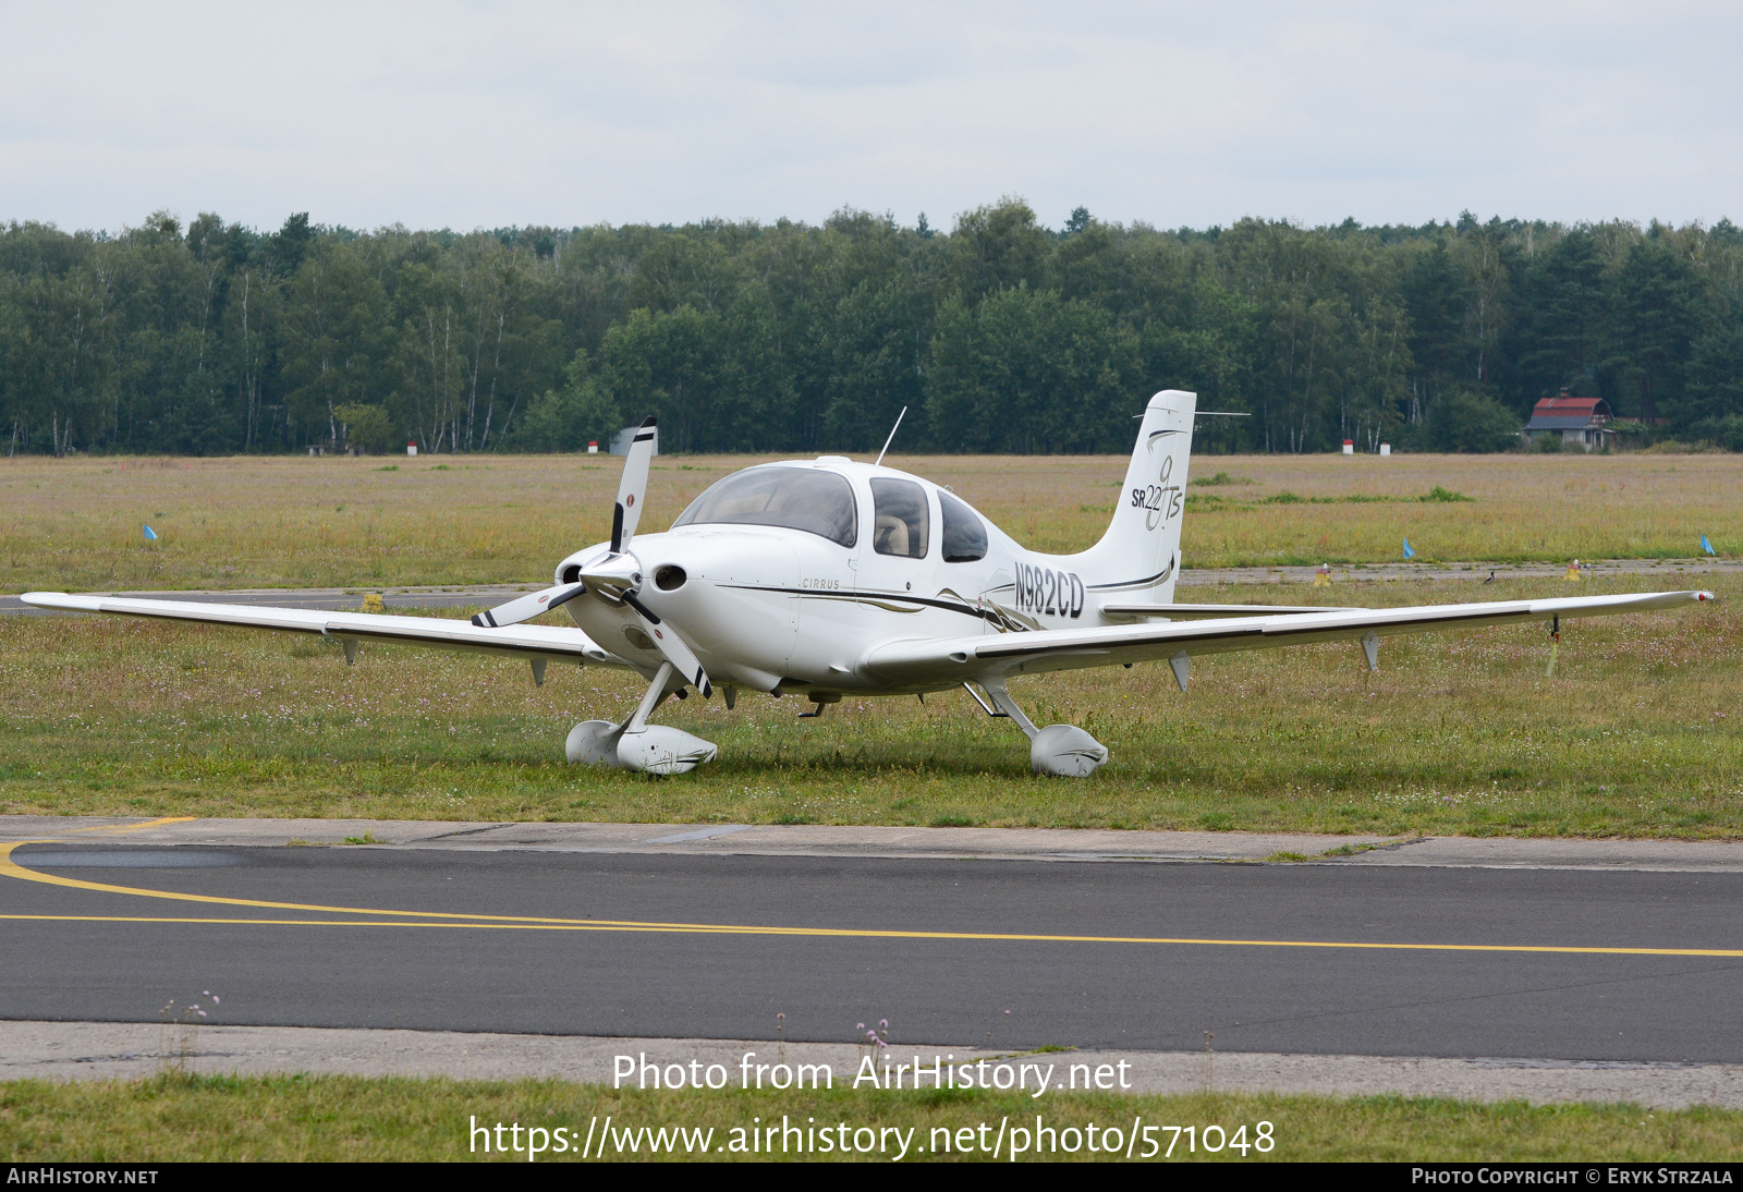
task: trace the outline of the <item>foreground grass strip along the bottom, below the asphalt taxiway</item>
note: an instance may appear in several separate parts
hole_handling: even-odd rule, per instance
[[[478,1154],[471,1145],[471,1122],[518,1122],[547,1133],[563,1126],[586,1136],[591,1121],[612,1117],[615,1129],[676,1128],[713,1129],[706,1159],[769,1159],[767,1154],[739,1155],[730,1150],[732,1129],[781,1122],[856,1129],[896,1128],[910,1140],[908,1161],[992,1159],[959,1150],[939,1154],[933,1147],[952,1131],[953,1145],[962,1128],[987,1122],[990,1152],[1000,1121],[1032,1129],[1041,1114],[1055,1129],[1082,1131],[1114,1126],[1129,1138],[1133,1119],[1142,1126],[1194,1126],[1194,1150],[1187,1136],[1156,1131],[1161,1147],[1175,1143],[1173,1161],[1715,1161],[1734,1159],[1743,1150],[1743,1114],[1719,1108],[1645,1110],[1637,1105],[1482,1105],[1429,1098],[1326,1098],[1251,1096],[1204,1093],[1196,1096],[1070,1094],[1034,1101],[1027,1094],[967,1093],[641,1093],[558,1080],[460,1082],[356,1077],[188,1077],[164,1075],[134,1082],[17,1080],[0,1084],[0,1154],[12,1162],[98,1161],[451,1161],[502,1159]],[[1269,1154],[1224,1147],[1206,1154],[1197,1129],[1222,1126],[1227,1136],[1241,1126],[1245,1140],[1269,1122]],[[908,1133],[912,1131],[912,1133]],[[511,1138],[507,1133],[505,1138]],[[521,1138],[526,1138],[525,1129]],[[741,1134],[743,1138],[743,1134]],[[861,1141],[868,1138],[859,1136]],[[898,1141],[885,1136],[894,1150]],[[694,1136],[692,1136],[694,1140]],[[566,1138],[565,1138],[566,1141]],[[1067,1138],[1067,1145],[1068,1145]],[[1082,1134],[1077,1136],[1079,1145]],[[692,1141],[694,1145],[694,1141]],[[797,1145],[797,1143],[795,1143]],[[580,1143],[577,1141],[577,1148]],[[915,1150],[926,1147],[924,1152]],[[575,1154],[546,1155],[551,1162],[575,1161]],[[608,1157],[617,1157],[610,1154]],[[624,1159],[647,1159],[641,1150]],[[664,1155],[662,1155],[664,1157]],[[676,1159],[688,1157],[678,1147]],[[702,1159],[702,1154],[695,1154]],[[781,1159],[776,1152],[772,1155]],[[797,1155],[791,1155],[797,1157]],[[812,1154],[809,1159],[840,1159]],[[878,1159],[880,1155],[854,1155]],[[889,1159],[892,1155],[882,1155]],[[1034,1155],[1025,1155],[1034,1157]],[[1116,1161],[1116,1155],[1044,1155],[1055,1161]],[[1117,1155],[1124,1157],[1124,1154]],[[509,1159],[514,1159],[511,1154]],[[525,1155],[519,1155],[525,1161]],[[1156,1155],[1157,1161],[1163,1155]],[[999,1161],[1009,1161],[1002,1152]]]

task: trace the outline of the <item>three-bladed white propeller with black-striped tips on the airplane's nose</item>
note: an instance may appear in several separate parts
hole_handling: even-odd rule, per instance
[[[558,584],[542,593],[519,596],[507,605],[478,613],[472,617],[472,624],[500,629],[528,617],[537,617],[584,593],[593,593],[612,605],[627,605],[641,620],[648,640],[671,662],[673,669],[687,683],[694,685],[695,690],[702,692],[702,699],[708,699],[715,694],[715,687],[708,681],[708,671],[702,667],[701,659],[678,636],[678,631],[661,620],[659,613],[643,605],[636,594],[641,591],[641,559],[629,552],[629,542],[636,537],[636,525],[641,521],[641,504],[648,486],[648,465],[654,460],[654,427],[655,420],[652,417],[643,418],[641,425],[636,427],[634,437],[629,441],[629,451],[624,457],[624,474],[617,481],[617,507],[612,511],[610,552],[582,566],[577,577],[579,582]]]

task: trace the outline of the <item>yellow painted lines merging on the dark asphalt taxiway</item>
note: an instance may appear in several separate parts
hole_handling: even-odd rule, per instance
[[[148,824],[139,824],[145,828]],[[216,906],[253,906],[260,910],[310,911],[315,915],[349,915],[350,918],[199,918],[176,915],[7,915],[0,922],[56,922],[56,924],[207,924],[207,925],[261,925],[261,927],[469,927],[474,931],[605,931],[683,936],[800,936],[821,939],[962,939],[983,943],[1077,943],[1077,945],[1150,945],[1150,946],[1204,946],[1204,948],[1321,948],[1367,952],[1464,952],[1464,953],[1548,953],[1586,957],[1720,957],[1743,958],[1743,948],[1614,948],[1576,945],[1457,945],[1457,943],[1370,943],[1356,939],[1208,939],[1197,936],[1053,936],[1037,932],[992,931],[898,931],[889,927],[774,927],[755,924],[662,924],[617,918],[544,918],[535,915],[469,915],[460,911],[408,911],[368,906],[324,906],[319,903],[274,903],[251,897],[221,897],[216,894],[180,894],[150,891],[136,885],[108,885],[80,878],[58,877],[26,870],[12,859],[21,843],[49,843],[12,840],[0,843],[0,877],[44,885],[63,885],[98,894],[124,894],[129,897],[160,897],[181,903]],[[382,918],[371,918],[382,917]]]

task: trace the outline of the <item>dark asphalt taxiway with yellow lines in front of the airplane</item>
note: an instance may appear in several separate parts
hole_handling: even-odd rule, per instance
[[[1204,856],[1173,833],[1070,850],[926,836],[950,830],[795,830],[810,842],[783,847],[777,828],[406,824],[399,843],[286,847],[232,821],[5,819],[7,840],[37,840],[0,845],[9,1019],[153,1021],[213,990],[225,1023],[253,1026],[779,1023],[844,1042],[889,1019],[898,1039],[992,1049],[1187,1053],[1208,1032],[1234,1053],[1743,1063],[1736,845],[1679,864],[1666,845],[1630,861],[1471,842],[1487,856],[1412,863],[1443,842],[1360,840],[1380,847],[1265,864],[1168,859]],[[1279,842],[1307,856],[1326,838],[1246,852]]]

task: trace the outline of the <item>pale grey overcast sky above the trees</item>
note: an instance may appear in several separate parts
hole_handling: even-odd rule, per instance
[[[1743,220],[1736,3],[12,3],[0,220]]]

